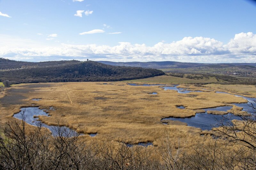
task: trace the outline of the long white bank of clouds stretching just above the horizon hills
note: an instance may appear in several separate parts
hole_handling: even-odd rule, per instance
[[[103,33],[92,30],[83,34]],[[205,37],[184,37],[172,43],[159,42],[154,46],[119,42],[116,46],[108,45],[70,45],[59,47],[18,48],[4,46],[0,42],[0,56],[34,61],[79,59],[109,61],[180,61],[198,63],[256,63],[256,34],[238,33],[227,44]],[[29,59],[31,61],[31,59]]]

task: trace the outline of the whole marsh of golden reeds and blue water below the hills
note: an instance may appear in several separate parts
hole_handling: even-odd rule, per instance
[[[179,168],[194,169],[190,165],[191,156],[210,146],[213,147],[212,150],[207,151],[207,155],[198,155],[198,159],[203,156],[210,159],[213,152],[220,152],[220,148],[224,147],[225,152],[234,152],[232,161],[236,160],[236,163],[221,164],[221,168],[228,169],[230,165],[241,168],[246,164],[250,169],[249,164],[254,164],[253,161],[244,163],[239,158],[242,153],[236,153],[237,149],[243,149],[243,152],[250,153],[249,157],[252,158],[254,150],[248,149],[248,145],[243,143],[224,144],[222,136],[226,134],[221,136],[221,130],[218,128],[223,128],[221,126],[227,123],[234,126],[247,119],[249,114],[253,114],[254,109],[251,109],[248,106],[250,103],[247,102],[253,104],[255,86],[155,84],[150,81],[141,84],[140,81],[131,81],[133,84],[60,82],[12,85],[1,93],[1,126],[6,130],[6,122],[24,120],[24,133],[30,134],[35,131],[36,126],[40,126],[43,134],[53,135],[50,137],[52,140],[57,140],[56,136],[58,137],[61,131],[61,135],[66,135],[66,138],[82,141],[85,148],[89,147],[89,143],[97,144],[93,146],[94,149],[101,151],[95,151],[95,159],[103,153],[106,154],[106,149],[109,148],[113,149],[111,154],[118,158],[121,156],[118,155],[119,152],[132,152],[133,147],[138,147],[139,155],[150,152],[143,160],[156,161],[153,165],[151,160],[151,164],[146,166],[146,162],[140,160],[143,167],[149,169],[164,168],[167,166],[166,159],[169,160],[167,167],[177,164]],[[67,132],[63,133],[63,129]],[[248,138],[247,134],[244,135]],[[8,133],[3,134],[2,138],[9,140]],[[166,147],[173,148],[166,150]],[[168,155],[170,151],[173,153]],[[215,158],[218,160],[212,160],[211,165],[201,165],[197,162],[197,166],[206,169],[211,166],[214,169],[220,168],[218,161],[223,161],[222,159],[229,155],[218,154],[220,155]],[[179,159],[174,160],[172,157],[175,155]],[[189,161],[183,160],[185,158]],[[129,163],[131,160],[127,158],[125,161]],[[133,164],[137,166],[137,163]],[[116,168],[117,165],[114,169]],[[129,166],[124,168],[134,169]]]

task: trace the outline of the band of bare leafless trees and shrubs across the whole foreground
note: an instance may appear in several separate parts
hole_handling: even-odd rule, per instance
[[[253,107],[253,105],[252,105]],[[254,107],[255,108],[255,107]],[[254,113],[255,114],[255,113]],[[124,143],[86,140],[67,129],[57,136],[45,134],[38,124],[29,128],[22,121],[9,121],[0,139],[0,169],[81,170],[183,170],[255,169],[256,117],[241,122],[219,122],[213,137],[188,146],[187,141],[166,132],[158,146],[128,147]],[[59,126],[58,126],[59,127]],[[71,137],[72,136],[72,137]]]

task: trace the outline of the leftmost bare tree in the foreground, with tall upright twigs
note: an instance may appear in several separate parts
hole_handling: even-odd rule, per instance
[[[8,121],[4,129],[4,140],[0,143],[0,159],[3,169],[34,169],[42,165],[44,159],[40,151],[47,139],[41,124],[28,131],[25,126],[25,111],[22,120]]]

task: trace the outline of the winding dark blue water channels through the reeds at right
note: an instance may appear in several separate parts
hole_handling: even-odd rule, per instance
[[[184,89],[184,88],[178,88],[178,85],[173,85],[173,86],[166,86],[163,84],[154,84],[154,85],[148,85],[148,84],[128,84],[128,85],[133,85],[133,86],[160,86],[160,88],[164,90],[175,90],[178,93],[190,93],[190,92],[203,92],[203,91],[192,91],[189,89]],[[206,89],[203,89],[206,90]],[[211,90],[207,90],[211,91]],[[216,92],[216,93],[227,93],[227,92]],[[230,94],[230,93],[227,93]],[[256,100],[256,98],[249,98],[249,97],[244,97],[240,95],[235,95],[236,97],[242,97],[248,101],[248,103],[231,103],[233,105],[236,105],[238,107],[243,107],[242,111],[246,111],[248,113],[254,113],[254,110],[252,107],[250,107],[250,102],[253,102]],[[178,106],[180,109],[186,109],[184,106]],[[186,117],[186,118],[176,118],[176,117],[168,117],[168,118],[163,118],[162,120],[172,120],[172,121],[180,121],[180,122],[185,122],[188,124],[188,126],[193,126],[196,128],[200,128],[202,130],[211,130],[214,125],[220,120],[223,120],[224,123],[228,122],[228,119],[223,119],[229,118],[230,120],[239,120],[241,117],[236,116],[232,113],[228,113],[225,115],[213,115],[213,114],[208,114],[207,111],[227,111],[231,109],[232,106],[220,106],[220,107],[213,107],[213,108],[204,108],[203,110],[205,112],[203,113],[196,113],[195,116],[192,117]],[[182,110],[181,110],[182,111]],[[166,124],[166,123],[164,123]]]

